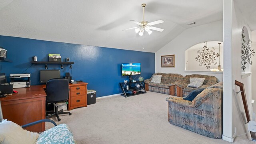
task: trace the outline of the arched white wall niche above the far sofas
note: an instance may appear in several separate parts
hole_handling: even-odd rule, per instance
[[[207,43],[207,45],[206,45]],[[220,43],[220,45],[218,44]],[[204,46],[207,46],[207,48]],[[220,56],[218,56],[220,54]],[[196,60],[197,59],[197,60]],[[218,66],[223,68],[223,42],[200,42],[185,51],[185,70],[201,72],[217,72]]]

